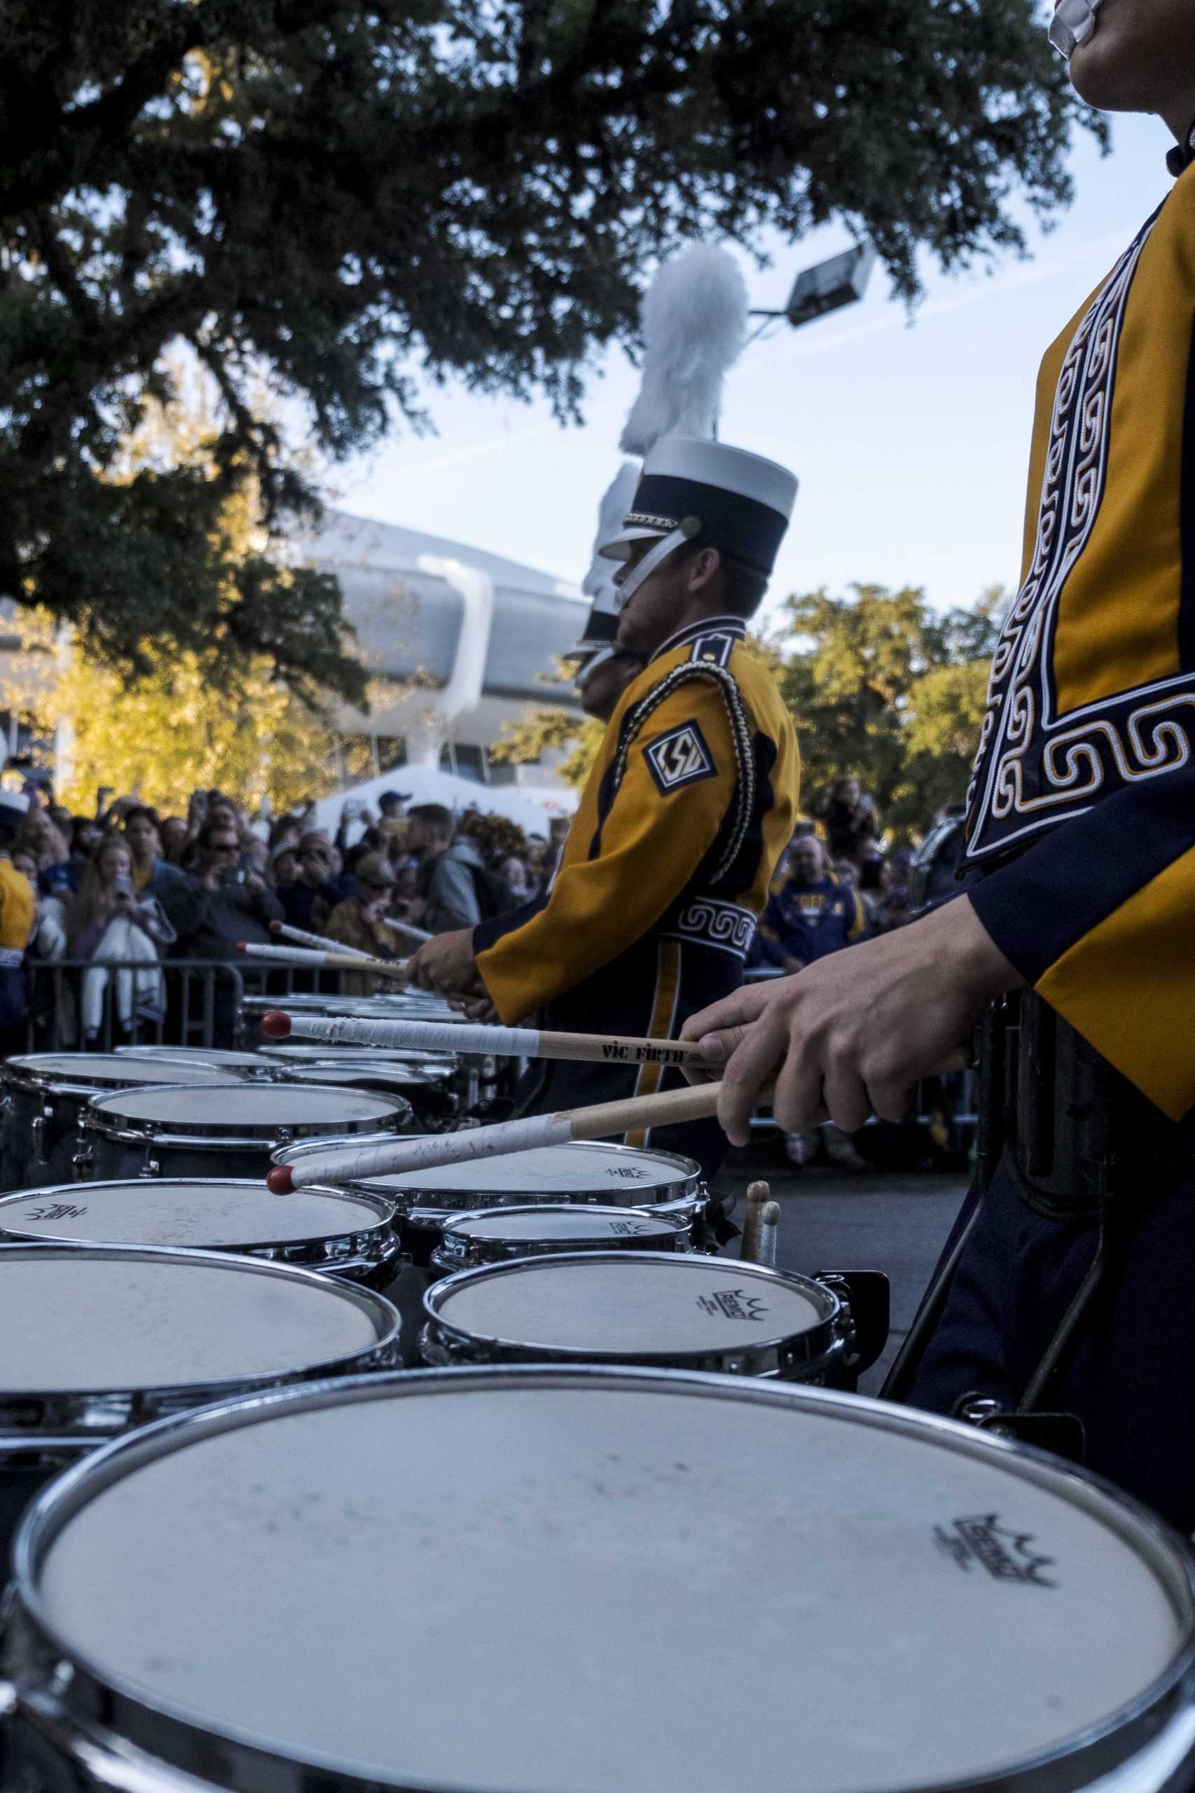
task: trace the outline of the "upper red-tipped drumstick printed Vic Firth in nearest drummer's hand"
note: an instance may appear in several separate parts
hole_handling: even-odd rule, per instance
[[[314,1018],[275,1009],[262,1015],[267,1040],[325,1040],[328,1045],[398,1045],[423,1052],[492,1052],[497,1058],[578,1058],[596,1065],[705,1065],[689,1040],[641,1040],[605,1033],[544,1033],[538,1027],[467,1026],[450,1020]]]

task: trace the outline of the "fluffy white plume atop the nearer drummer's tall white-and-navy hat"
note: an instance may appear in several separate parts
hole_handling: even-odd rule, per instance
[[[746,339],[734,256],[698,242],[667,262],[642,303],[642,385],[619,448],[646,455],[660,436],[712,436],[723,375]]]

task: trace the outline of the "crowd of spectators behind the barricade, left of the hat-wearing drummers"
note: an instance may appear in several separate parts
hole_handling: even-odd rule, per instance
[[[99,793],[93,816],[38,791],[14,801],[27,807],[20,819],[5,812],[13,827],[0,830],[0,850],[34,898],[31,923],[23,909],[13,914],[27,934],[16,957],[27,990],[38,965],[79,974],[56,984],[56,1004],[68,995],[74,1013],[56,1015],[54,1036],[72,1045],[93,1044],[102,1026],[104,1038],[124,1042],[156,1029],[165,963],[233,959],[242,943],[269,943],[271,922],[393,959],[409,950],[404,927],[438,934],[502,914],[540,893],[563,832],[526,836],[501,816],[454,818],[436,803],[407,809],[402,791],[384,793],[377,814],[345,803],[336,832],[316,827],[312,803],[273,818],[222,791],[196,791],[187,816],[111,791]],[[0,905],[13,888],[0,880]],[[11,895],[7,904],[14,909]],[[377,988],[371,974],[350,984]],[[7,1051],[29,1036],[18,1009],[9,1000],[0,1015]],[[230,1029],[231,1013],[217,1017],[217,1033]]]

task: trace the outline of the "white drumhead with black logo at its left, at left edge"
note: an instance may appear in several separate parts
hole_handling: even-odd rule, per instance
[[[280,1198],[248,1180],[74,1183],[0,1201],[0,1232],[22,1239],[167,1244],[197,1252],[336,1239],[377,1225],[379,1214],[346,1192],[296,1189]]]

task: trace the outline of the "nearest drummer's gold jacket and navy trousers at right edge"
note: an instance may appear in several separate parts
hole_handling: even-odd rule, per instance
[[[1082,1287],[1037,1406],[1077,1413],[1087,1463],[1190,1531],[1191,167],[1042,362],[1023,585],[992,665],[965,862],[980,920],[1030,990],[990,1047],[1007,1061],[1008,1148],[910,1399],[1016,1406]]]

